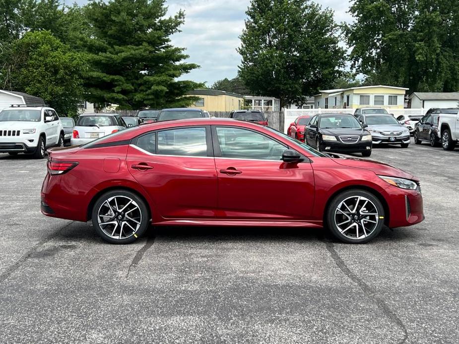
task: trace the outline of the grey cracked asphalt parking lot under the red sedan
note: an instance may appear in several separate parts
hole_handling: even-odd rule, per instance
[[[46,159],[0,154],[0,343],[459,343],[459,148],[373,150],[421,178],[426,220],[151,229],[110,245],[40,213]]]

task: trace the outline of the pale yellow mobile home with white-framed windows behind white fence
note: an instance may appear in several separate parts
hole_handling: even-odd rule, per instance
[[[403,109],[407,90],[404,87],[383,85],[323,90],[314,96],[314,105],[322,109]]]

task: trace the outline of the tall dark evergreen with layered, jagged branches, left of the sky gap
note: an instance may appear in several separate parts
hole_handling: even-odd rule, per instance
[[[185,63],[184,49],[173,47],[184,12],[166,17],[164,0],[92,0],[85,7],[93,36],[86,40],[92,69],[86,73],[87,100],[121,109],[188,106],[184,97],[202,87],[177,80],[198,66]]]

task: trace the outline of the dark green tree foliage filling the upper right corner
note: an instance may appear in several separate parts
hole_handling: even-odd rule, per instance
[[[350,59],[365,84],[459,90],[457,0],[354,0],[349,12]]]

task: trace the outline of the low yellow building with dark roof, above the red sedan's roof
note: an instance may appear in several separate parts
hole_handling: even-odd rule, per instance
[[[199,97],[199,100],[190,108],[205,111],[240,110],[244,106],[244,96],[240,94],[217,90],[193,90],[188,93]]]

